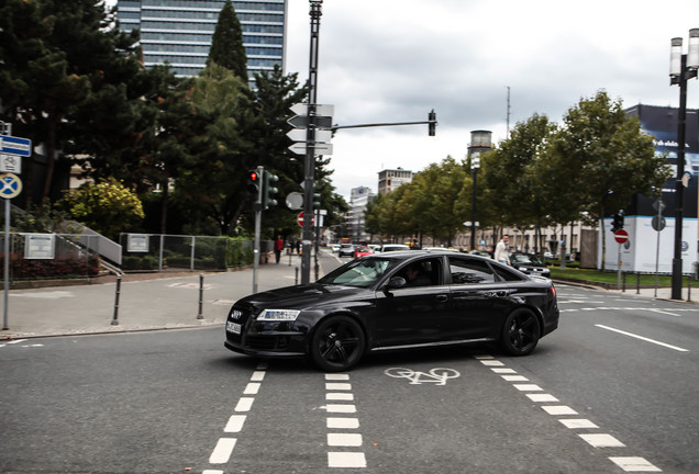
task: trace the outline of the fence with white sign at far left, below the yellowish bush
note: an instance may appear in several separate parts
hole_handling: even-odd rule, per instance
[[[92,278],[100,273],[100,236],[82,234],[10,233],[9,280],[53,280]],[[4,248],[4,234],[0,235]],[[4,279],[4,252],[0,253],[0,275]]]

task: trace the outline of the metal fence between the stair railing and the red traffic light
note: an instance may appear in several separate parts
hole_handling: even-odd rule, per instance
[[[221,270],[253,263],[253,241],[231,237],[165,234],[121,234],[124,271]],[[260,252],[274,242],[260,242]]]

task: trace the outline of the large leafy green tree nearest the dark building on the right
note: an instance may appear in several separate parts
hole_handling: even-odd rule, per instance
[[[603,90],[568,110],[544,157],[537,176],[542,179],[547,171],[554,177],[544,182],[545,195],[562,195],[562,187],[579,193],[579,204],[569,207],[568,221],[575,218],[575,208],[599,222],[631,204],[635,194],[661,189],[670,176],[665,157],[655,155],[653,136],[641,129],[636,117],[626,116],[620,100],[612,101]],[[606,233],[600,232],[604,270]]]

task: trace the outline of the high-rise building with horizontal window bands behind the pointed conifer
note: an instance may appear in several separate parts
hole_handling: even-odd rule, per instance
[[[207,63],[224,0],[119,0],[123,31],[141,31],[145,67],[168,63],[178,76],[197,76]],[[247,71],[285,68],[287,0],[235,0]]]

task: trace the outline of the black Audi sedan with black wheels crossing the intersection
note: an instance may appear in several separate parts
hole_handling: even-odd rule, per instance
[[[336,372],[392,349],[499,341],[507,353],[526,356],[557,326],[551,280],[478,256],[411,250],[364,257],[315,283],[237,301],[225,347],[309,357]]]

